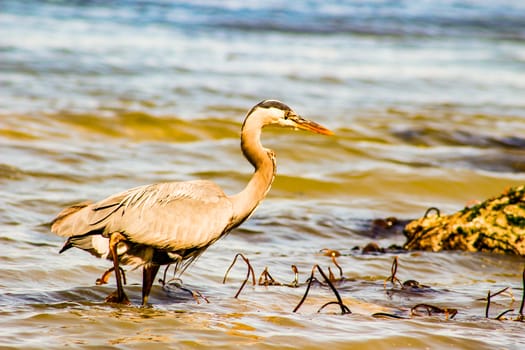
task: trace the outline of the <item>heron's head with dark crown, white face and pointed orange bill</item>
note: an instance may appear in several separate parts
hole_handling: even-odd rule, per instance
[[[248,116],[261,113],[264,125],[278,125],[293,129],[307,130],[323,135],[333,135],[331,130],[311,120],[304,119],[286,104],[277,100],[264,100],[256,104]]]

